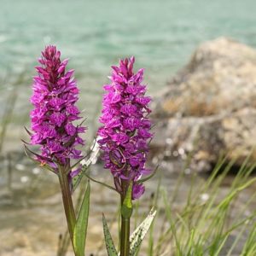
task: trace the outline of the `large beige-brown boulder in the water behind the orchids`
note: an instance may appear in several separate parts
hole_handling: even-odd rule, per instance
[[[256,160],[256,51],[228,38],[201,44],[155,99],[154,120],[153,148],[166,157],[193,152],[201,169],[221,152]]]

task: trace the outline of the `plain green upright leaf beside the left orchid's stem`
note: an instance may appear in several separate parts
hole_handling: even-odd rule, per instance
[[[88,181],[84,199],[79,211],[79,217],[73,231],[73,247],[77,256],[84,256],[85,239],[90,209],[90,182]]]

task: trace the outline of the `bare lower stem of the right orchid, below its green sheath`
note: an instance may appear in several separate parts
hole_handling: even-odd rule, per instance
[[[120,256],[129,256],[130,253],[130,218],[121,217]]]

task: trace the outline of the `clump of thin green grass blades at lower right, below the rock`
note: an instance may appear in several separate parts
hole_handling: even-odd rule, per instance
[[[229,172],[235,161],[226,164],[225,159],[220,159],[208,177],[196,172],[188,175],[188,166],[184,166],[171,192],[159,176],[154,197],[148,201],[158,210],[149,229],[148,247],[147,243],[138,245],[137,252],[131,249],[131,255],[256,255],[256,191],[252,189],[256,185],[252,175],[255,165],[245,161],[232,177]],[[241,201],[245,196],[246,201]],[[137,224],[143,221],[138,210],[142,207],[145,201],[137,201],[132,216],[137,236],[142,235],[137,232]],[[134,243],[131,241],[131,247]]]

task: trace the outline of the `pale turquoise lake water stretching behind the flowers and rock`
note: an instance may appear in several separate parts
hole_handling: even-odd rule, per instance
[[[256,47],[255,11],[255,0],[0,0],[0,77],[24,68],[31,76],[44,45],[56,44],[76,68],[90,117],[120,57],[135,55],[146,67],[154,95],[206,40],[228,36]],[[20,89],[27,108],[30,83]]]

